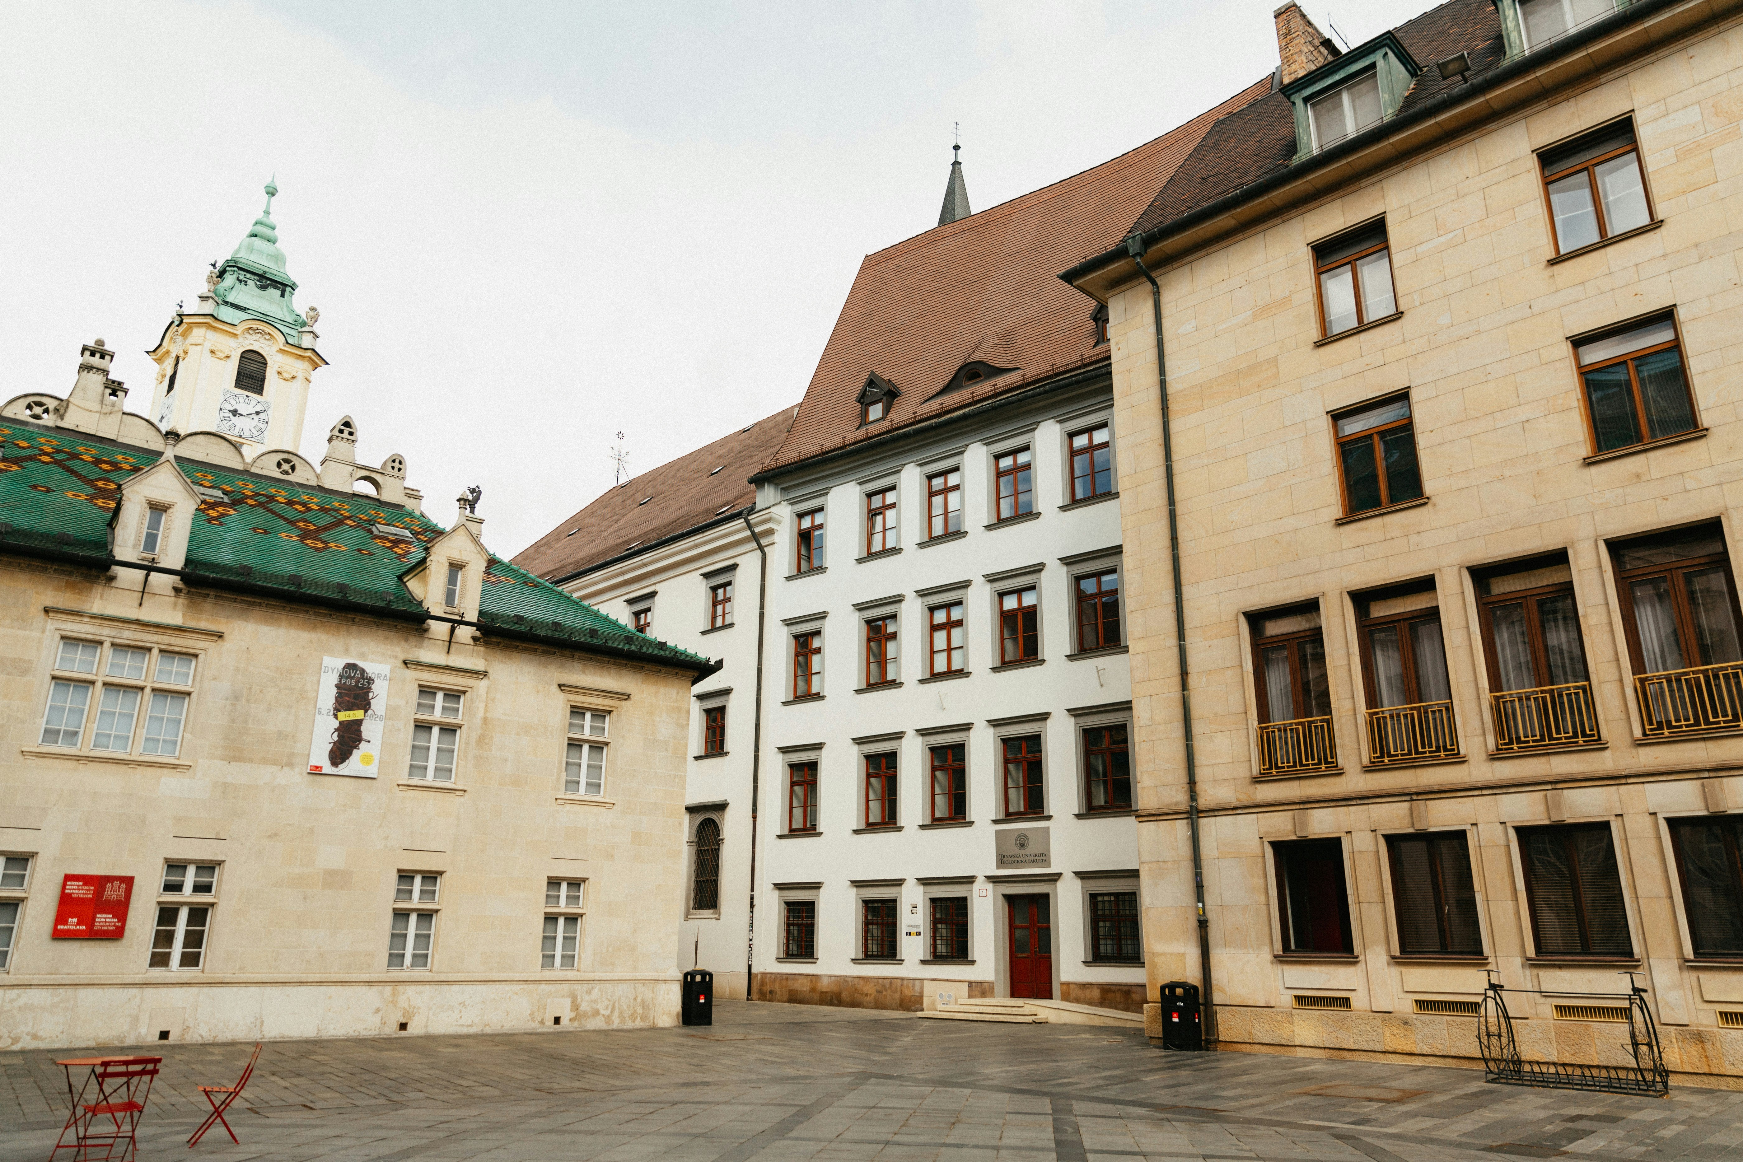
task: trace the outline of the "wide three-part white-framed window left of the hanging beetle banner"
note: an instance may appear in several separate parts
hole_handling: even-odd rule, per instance
[[[193,665],[192,653],[61,638],[38,742],[173,758],[181,753]]]

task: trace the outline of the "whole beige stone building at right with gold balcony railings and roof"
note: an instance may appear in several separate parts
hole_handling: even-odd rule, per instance
[[[1740,1085],[1743,5],[1276,19],[1271,91],[1065,275],[1152,990],[1213,981],[1224,1049],[1473,1064],[1495,976],[1527,1057],[1616,1064],[1633,972],[1672,1077]]]

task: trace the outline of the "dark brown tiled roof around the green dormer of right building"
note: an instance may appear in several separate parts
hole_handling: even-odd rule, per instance
[[[1469,52],[1471,77],[1502,61],[1501,17],[1490,0],[1448,0],[1438,9],[1393,30],[1422,73],[1405,94],[1400,113],[1448,89],[1466,84],[1441,80],[1436,61]],[[1370,42],[1372,44],[1372,42]],[[1361,45],[1354,49],[1361,51]],[[1272,92],[1217,122],[1197,148],[1173,172],[1156,200],[1131,226],[1149,232],[1190,214],[1241,186],[1285,169],[1295,159],[1295,111],[1290,99]],[[1102,246],[1112,249],[1129,232],[1110,233]]]

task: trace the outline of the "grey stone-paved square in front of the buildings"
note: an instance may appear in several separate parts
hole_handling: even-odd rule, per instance
[[[1096,1026],[723,1002],[711,1030],[270,1042],[221,1127],[183,1145],[251,1045],[160,1045],[141,1159],[943,1159],[1476,1162],[1743,1159],[1743,1094],[1487,1085],[1471,1070],[1164,1054]],[[117,1052],[117,1051],[106,1051]],[[0,1054],[0,1162],[61,1129],[54,1057]]]

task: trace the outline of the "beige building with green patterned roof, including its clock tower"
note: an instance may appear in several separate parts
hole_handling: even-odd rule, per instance
[[[152,352],[167,430],[101,340],[0,408],[0,1049],[675,1024],[713,664],[349,418],[296,455],[291,291],[263,213]]]

